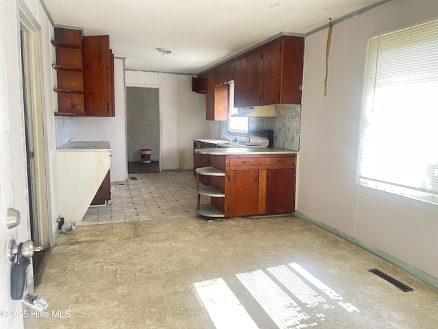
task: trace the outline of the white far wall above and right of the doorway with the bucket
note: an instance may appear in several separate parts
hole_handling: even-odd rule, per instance
[[[159,88],[162,169],[192,169],[193,139],[209,136],[205,95],[192,92],[192,76],[126,71],[127,86]]]

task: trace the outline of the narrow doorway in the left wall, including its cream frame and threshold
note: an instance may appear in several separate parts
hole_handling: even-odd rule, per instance
[[[32,258],[34,284],[38,285],[51,245],[40,42],[38,29],[23,12],[20,12],[20,23],[29,228],[35,246],[42,247]]]

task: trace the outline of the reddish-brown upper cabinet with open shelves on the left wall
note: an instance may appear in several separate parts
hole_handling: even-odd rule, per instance
[[[56,115],[114,117],[114,56],[109,36],[82,36],[55,27],[58,112]]]

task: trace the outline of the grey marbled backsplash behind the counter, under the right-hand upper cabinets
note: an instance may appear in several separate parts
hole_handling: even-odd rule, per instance
[[[250,130],[273,130],[274,147],[300,149],[301,106],[277,104],[274,118],[249,118]],[[228,122],[219,122],[219,134],[227,134]]]

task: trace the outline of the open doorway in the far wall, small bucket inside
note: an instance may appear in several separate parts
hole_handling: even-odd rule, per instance
[[[159,173],[159,88],[127,87],[127,136],[128,174]]]

